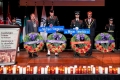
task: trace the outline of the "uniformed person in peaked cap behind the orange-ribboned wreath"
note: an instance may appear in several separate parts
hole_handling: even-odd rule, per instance
[[[75,30],[83,28],[83,20],[80,19],[80,11],[75,11],[75,19],[73,19],[71,21],[70,28],[71,29],[75,29]],[[76,45],[76,46],[79,47],[79,45]],[[80,57],[80,54],[78,54],[78,53],[75,52],[74,56],[75,57]]]

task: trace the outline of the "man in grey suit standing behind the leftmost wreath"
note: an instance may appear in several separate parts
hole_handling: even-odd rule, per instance
[[[38,32],[38,21],[36,20],[35,14],[31,14],[30,15],[31,20],[28,20],[26,23],[26,27],[25,27],[25,32],[26,34],[29,34],[31,32]],[[33,46],[31,44],[31,46]],[[37,53],[34,53],[32,56],[32,53],[28,52],[29,57],[38,57]]]

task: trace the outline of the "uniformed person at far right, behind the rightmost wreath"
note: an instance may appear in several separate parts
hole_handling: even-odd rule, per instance
[[[109,24],[106,24],[105,31],[108,32],[109,34],[111,34],[115,38],[115,36],[114,36],[115,25],[113,24],[113,18],[109,18]],[[114,50],[112,52],[114,52]]]

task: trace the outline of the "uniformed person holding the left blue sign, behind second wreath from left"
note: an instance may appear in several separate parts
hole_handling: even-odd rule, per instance
[[[52,26],[59,26],[59,20],[57,16],[54,16],[54,10],[50,10],[49,12],[50,16],[46,19],[46,26],[52,27]],[[47,56],[50,56],[50,51],[48,50]],[[58,53],[55,53],[55,56],[59,56]]]

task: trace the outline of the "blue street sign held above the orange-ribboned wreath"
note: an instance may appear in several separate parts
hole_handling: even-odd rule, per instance
[[[90,29],[64,29],[64,34],[78,34],[78,33],[83,33],[83,34],[90,34]]]

